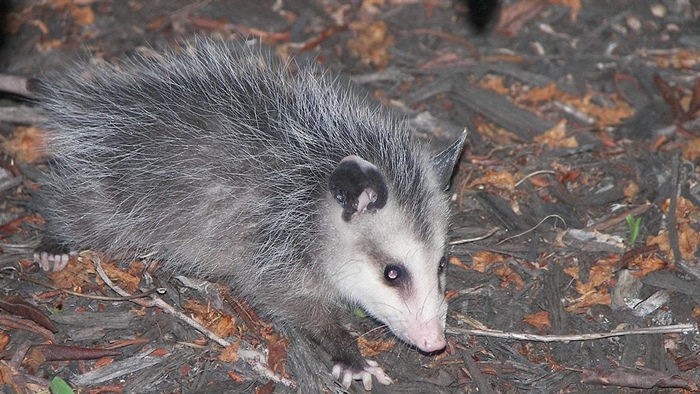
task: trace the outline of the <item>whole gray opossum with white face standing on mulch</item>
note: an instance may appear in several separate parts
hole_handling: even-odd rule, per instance
[[[406,121],[311,64],[197,39],[35,87],[54,159],[43,253],[149,253],[223,280],[324,348],[344,386],[391,379],[342,327],[359,305],[445,347],[449,185],[465,135],[431,157]]]

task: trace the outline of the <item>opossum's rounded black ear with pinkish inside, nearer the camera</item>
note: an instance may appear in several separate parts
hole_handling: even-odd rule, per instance
[[[345,221],[366,210],[381,209],[389,197],[389,190],[379,169],[358,156],[347,156],[338,163],[328,181],[328,189],[343,207]]]

